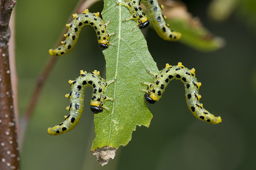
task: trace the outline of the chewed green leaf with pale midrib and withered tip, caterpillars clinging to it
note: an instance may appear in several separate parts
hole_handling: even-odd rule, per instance
[[[103,51],[106,60],[106,79],[117,79],[110,84],[106,96],[115,101],[105,104],[111,111],[104,109],[95,115],[95,134],[91,151],[97,155],[100,164],[104,165],[120,145],[127,145],[131,140],[132,131],[136,126],[148,127],[152,114],[144,101],[147,87],[141,82],[151,82],[154,77],[146,72],[158,72],[158,68],[150,53],[143,34],[136,27],[134,20],[123,22],[130,16],[127,7],[116,4],[114,0],[104,1],[102,17],[104,21],[111,20],[107,29],[112,35],[110,46]],[[105,147],[104,147],[105,146]],[[102,148],[102,149],[99,149]],[[102,158],[101,152],[109,157]],[[109,151],[109,152],[108,152]],[[104,155],[103,154],[103,155]]]

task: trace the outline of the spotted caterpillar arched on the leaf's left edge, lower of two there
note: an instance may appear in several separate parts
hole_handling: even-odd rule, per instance
[[[106,100],[113,101],[114,99],[105,96],[104,92],[108,85],[114,81],[116,81],[116,79],[105,81],[105,79],[100,77],[100,72],[97,72],[97,70],[91,73],[81,70],[80,75],[76,80],[69,80],[71,92],[65,95],[71,102],[66,108],[70,111],[70,114],[65,116],[65,120],[59,125],[49,127],[48,134],[61,135],[69,132],[79,123],[84,109],[84,91],[89,86],[93,87],[93,97],[91,98],[90,110],[95,114],[102,112],[102,108],[110,110],[104,105],[104,103]]]

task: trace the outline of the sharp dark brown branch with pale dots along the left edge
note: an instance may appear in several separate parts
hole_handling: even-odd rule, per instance
[[[9,64],[9,21],[16,1],[0,1],[0,169],[19,169]]]

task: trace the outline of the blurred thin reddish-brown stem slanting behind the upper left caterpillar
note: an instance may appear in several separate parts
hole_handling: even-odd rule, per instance
[[[76,4],[74,10],[72,11],[72,14],[82,13],[85,9],[89,8],[89,5],[92,5],[93,2],[97,2],[97,1],[99,1],[99,0],[80,0]],[[71,22],[72,19],[73,19],[73,17],[72,17],[72,15],[70,15],[70,18],[68,19],[67,23]],[[58,47],[60,45],[60,42],[65,40],[65,37],[63,36],[63,34],[65,34],[66,32],[67,32],[67,27],[65,26],[63,28],[58,40],[56,41],[54,47]],[[25,133],[27,131],[27,126],[28,126],[30,117],[33,113],[33,110],[38,102],[38,98],[41,93],[42,87],[43,87],[46,79],[48,78],[49,74],[51,73],[57,59],[58,59],[58,57],[49,56],[49,58],[45,64],[45,67],[43,68],[42,73],[38,76],[37,83],[35,85],[35,89],[33,91],[31,100],[27,106],[25,113],[24,113],[22,122],[20,123],[20,146],[23,145]]]

